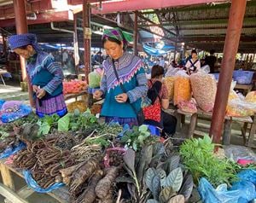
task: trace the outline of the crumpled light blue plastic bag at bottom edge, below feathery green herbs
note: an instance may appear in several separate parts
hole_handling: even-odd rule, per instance
[[[214,189],[206,178],[201,177],[198,187],[201,200],[204,203],[238,203],[240,190],[227,189],[227,184],[221,184]]]

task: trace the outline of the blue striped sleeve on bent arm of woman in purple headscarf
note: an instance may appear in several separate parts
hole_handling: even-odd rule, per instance
[[[54,58],[50,57],[49,60],[45,61],[44,68],[54,75],[54,78],[44,86],[44,90],[51,95],[55,89],[62,83],[64,78],[61,66],[59,63],[54,61]]]

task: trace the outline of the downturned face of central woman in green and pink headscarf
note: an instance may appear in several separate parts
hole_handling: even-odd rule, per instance
[[[123,43],[117,44],[113,43],[109,40],[107,40],[104,44],[104,49],[106,50],[106,53],[113,58],[114,60],[119,59],[123,55]]]

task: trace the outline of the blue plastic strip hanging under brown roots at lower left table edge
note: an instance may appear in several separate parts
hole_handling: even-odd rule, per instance
[[[26,184],[28,185],[28,187],[32,188],[33,190],[35,190],[38,193],[49,193],[52,190],[56,189],[56,188],[61,188],[62,186],[64,186],[64,183],[54,183],[53,185],[49,186],[48,188],[41,188],[38,183],[32,178],[31,172],[30,171],[23,171],[23,176],[26,180]]]

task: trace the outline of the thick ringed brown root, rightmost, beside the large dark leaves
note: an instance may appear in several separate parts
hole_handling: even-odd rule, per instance
[[[97,183],[95,192],[100,199],[105,199],[113,184],[113,181],[118,176],[119,167],[112,167],[108,170],[107,175]]]

